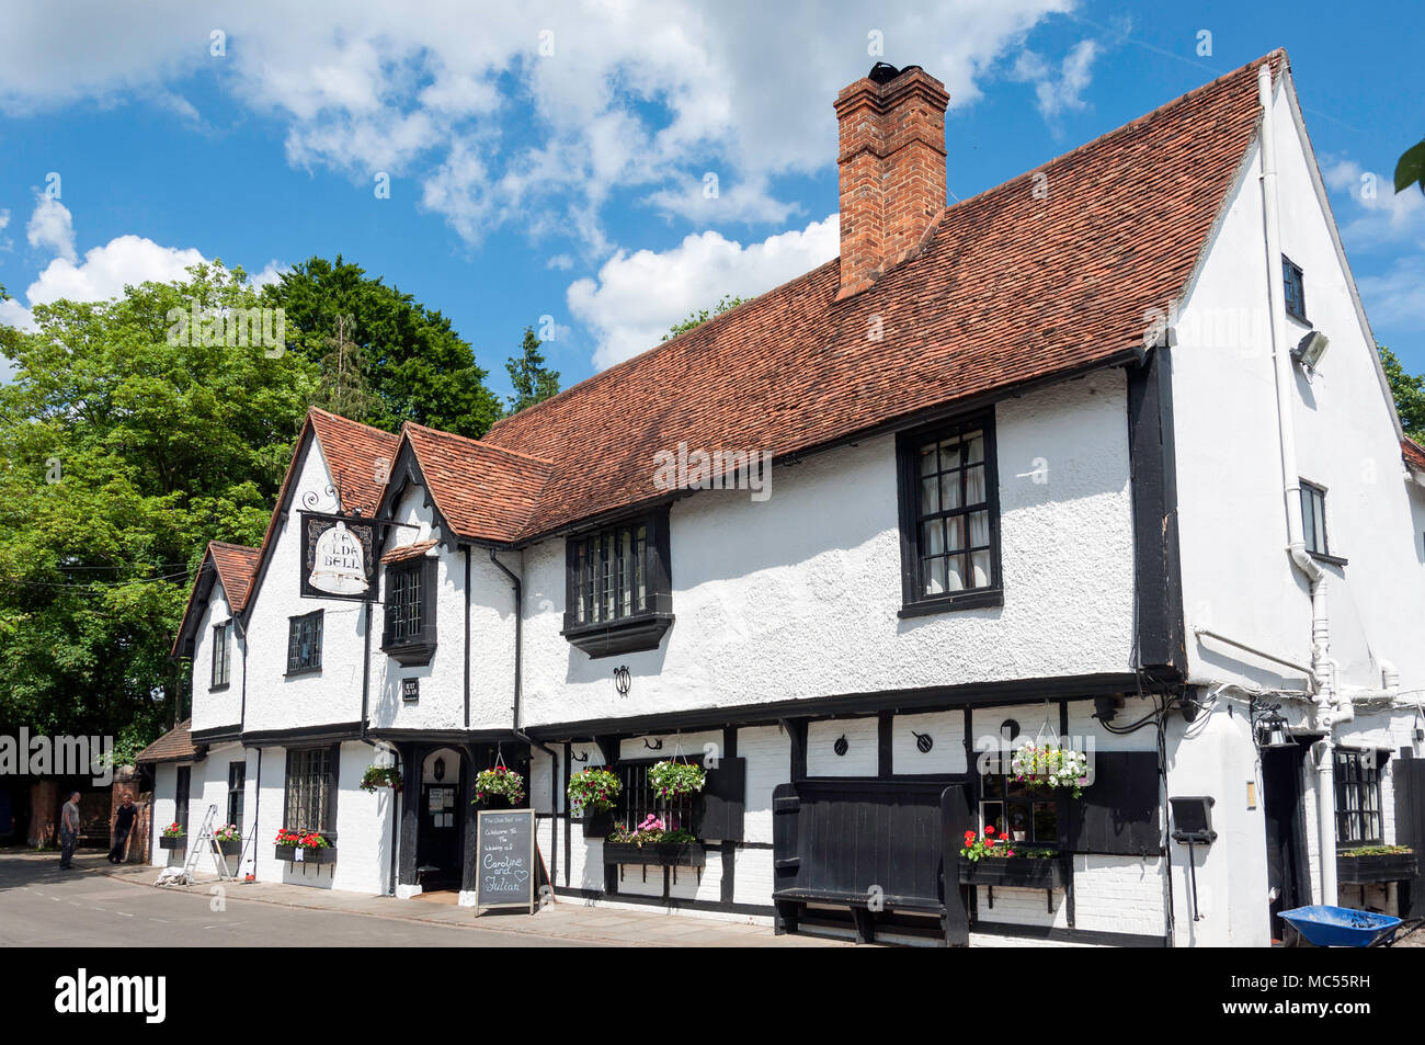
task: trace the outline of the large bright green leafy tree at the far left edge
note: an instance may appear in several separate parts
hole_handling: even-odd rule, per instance
[[[241,271],[37,305],[0,386],[0,733],[105,733],[172,714],[168,652],[209,539],[261,542],[316,365],[224,344]],[[205,336],[209,335],[209,336]],[[184,701],[187,703],[187,701]]]

